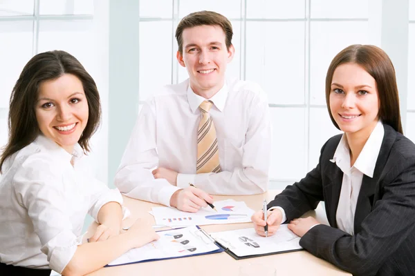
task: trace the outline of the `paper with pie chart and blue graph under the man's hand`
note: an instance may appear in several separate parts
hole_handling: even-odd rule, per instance
[[[233,199],[214,201],[214,206],[218,212],[209,206],[197,213],[187,213],[170,207],[153,207],[152,210],[156,224],[166,226],[237,224],[250,222],[250,217],[255,213],[245,202]]]

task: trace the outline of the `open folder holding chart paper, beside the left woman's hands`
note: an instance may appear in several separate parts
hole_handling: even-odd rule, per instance
[[[150,242],[140,248],[133,248],[107,266],[223,252],[223,248],[218,246],[199,226],[162,230],[157,233],[160,236],[158,241]]]

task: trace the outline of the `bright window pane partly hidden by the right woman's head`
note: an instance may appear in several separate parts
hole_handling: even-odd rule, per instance
[[[324,83],[331,60],[351,44],[367,44],[367,22],[311,22],[310,92],[312,104],[326,104]]]

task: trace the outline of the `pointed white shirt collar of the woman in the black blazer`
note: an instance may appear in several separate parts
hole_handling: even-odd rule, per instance
[[[363,146],[358,159],[356,159],[355,164],[353,164],[353,167],[357,168],[368,177],[374,177],[376,161],[378,160],[384,135],[385,130],[383,124],[381,121],[378,121],[378,124],[376,124],[374,130],[371,132],[369,139],[367,139],[365,146]],[[350,150],[346,135],[343,134],[342,139],[334,152],[333,159],[330,161],[337,164],[343,172],[345,172],[347,168],[350,168]]]

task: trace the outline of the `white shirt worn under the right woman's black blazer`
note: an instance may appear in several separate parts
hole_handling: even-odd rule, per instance
[[[374,130],[372,130],[369,139],[367,139],[365,146],[363,146],[358,159],[356,159],[353,166],[350,166],[349,143],[347,142],[346,135],[343,134],[342,139],[340,139],[340,143],[334,152],[333,159],[330,160],[343,172],[342,188],[340,190],[335,221],[340,230],[343,230],[350,235],[354,235],[354,217],[356,205],[358,204],[360,187],[362,186],[363,175],[367,175],[371,178],[374,177],[376,161],[378,160],[380,146],[382,146],[384,135],[385,130],[383,124],[381,121],[378,121],[378,124],[376,124]],[[282,223],[285,222],[286,214],[284,209],[275,206],[270,208],[270,210],[275,208],[282,210]]]

